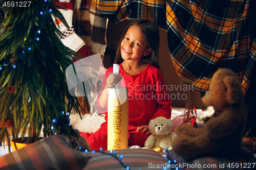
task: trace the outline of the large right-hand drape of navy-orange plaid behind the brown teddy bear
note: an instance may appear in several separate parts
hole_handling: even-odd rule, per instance
[[[169,51],[177,74],[200,91],[231,68],[247,95],[256,59],[255,1],[167,1]]]

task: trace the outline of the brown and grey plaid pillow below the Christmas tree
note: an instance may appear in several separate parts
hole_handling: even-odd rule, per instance
[[[90,156],[72,149],[68,136],[50,136],[0,158],[0,169],[82,169]]]

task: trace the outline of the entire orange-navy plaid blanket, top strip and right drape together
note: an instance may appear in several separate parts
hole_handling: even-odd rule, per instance
[[[247,129],[256,124],[256,1],[254,0],[94,0],[116,23],[143,18],[167,30],[178,76],[200,92],[208,90],[219,67],[232,69],[249,107]]]

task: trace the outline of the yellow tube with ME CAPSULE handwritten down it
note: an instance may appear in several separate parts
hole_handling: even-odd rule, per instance
[[[109,89],[108,150],[128,148],[129,100],[128,88]]]

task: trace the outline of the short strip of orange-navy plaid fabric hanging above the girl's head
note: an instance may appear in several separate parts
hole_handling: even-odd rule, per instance
[[[166,28],[164,0],[94,0],[99,11],[116,23],[124,19],[147,19],[156,22],[160,28]]]

